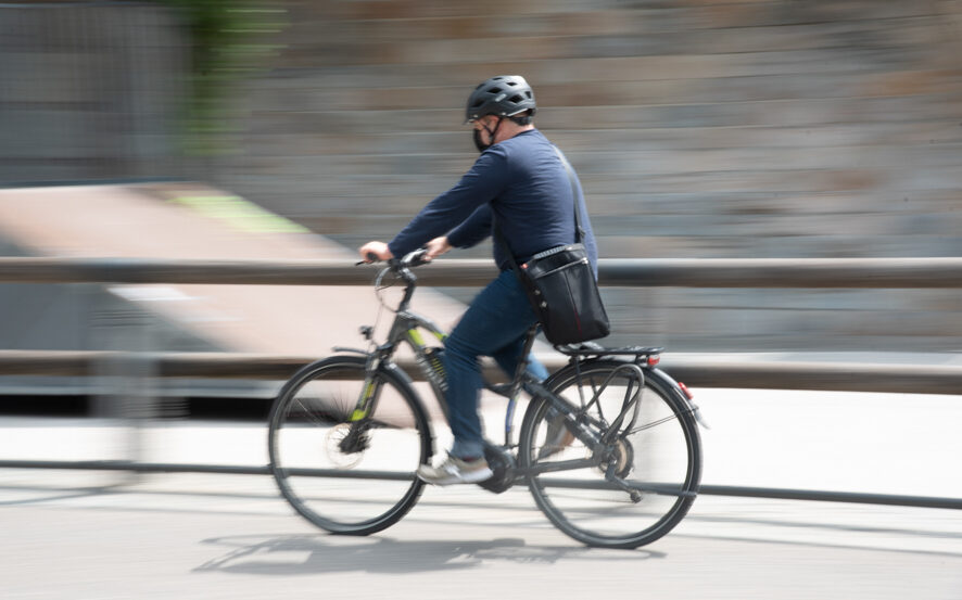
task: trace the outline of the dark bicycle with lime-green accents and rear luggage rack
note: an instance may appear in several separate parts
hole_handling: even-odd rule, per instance
[[[363,327],[368,349],[336,347],[339,354],[300,369],[271,407],[270,471],[296,512],[327,532],[380,532],[426,485],[415,471],[430,462],[434,438],[421,396],[433,393],[444,412],[446,384],[443,347],[422,335],[443,344],[445,333],[409,311],[413,268],[427,263],[425,254],[390,260],[375,280],[383,306],[384,278],[404,284],[387,340],[377,344],[374,328]],[[536,325],[529,331],[523,357],[536,333]],[[426,383],[414,383],[395,361],[402,345]],[[547,519],[588,546],[650,544],[678,525],[698,493],[698,408],[656,368],[661,348],[556,348],[569,362],[544,382],[527,373],[527,359],[508,383],[485,381],[508,403],[504,443],[485,443],[494,475],[478,485],[503,493],[527,484]],[[530,400],[515,444],[522,390]]]

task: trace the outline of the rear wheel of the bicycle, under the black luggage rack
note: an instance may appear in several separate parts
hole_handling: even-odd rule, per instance
[[[592,391],[623,365],[623,361],[611,359],[586,361],[579,366],[580,375],[573,365],[568,366],[549,378],[545,387],[571,405],[582,406],[579,382],[586,393],[585,398],[590,399]],[[585,545],[637,548],[650,544],[674,528],[695,500],[701,477],[701,442],[697,423],[676,384],[654,369],[644,369],[644,375],[637,419],[623,425],[624,435],[619,436],[617,451],[609,460],[615,464],[615,472],[635,488],[638,501],[606,481],[604,470],[607,463],[527,475],[529,488],[542,512],[561,532]],[[613,420],[625,394],[631,395],[631,380],[630,371],[622,369],[615,373],[609,386],[600,394],[599,405],[603,409],[609,408],[608,414],[599,414],[595,408],[591,408],[587,414],[598,421]],[[553,414],[550,403],[544,398],[532,399],[519,438],[522,469],[591,455],[571,436],[568,436],[570,443],[560,449],[559,445],[546,446],[552,419],[557,419],[557,412]],[[553,450],[556,454],[540,457]]]

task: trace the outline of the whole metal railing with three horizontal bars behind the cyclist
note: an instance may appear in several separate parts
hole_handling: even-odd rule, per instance
[[[489,260],[438,260],[418,272],[426,285],[477,286],[494,275]],[[0,282],[221,283],[367,285],[371,270],[353,260],[211,261],[153,259],[0,258]],[[962,258],[875,259],[603,259],[599,281],[616,286],[958,289]],[[87,375],[112,354],[0,350],[0,375]],[[316,357],[218,353],[142,354],[166,378],[283,380]],[[547,366],[557,367],[547,361]],[[413,365],[402,362],[412,374]],[[666,370],[693,387],[817,390],[914,394],[962,391],[962,367],[875,363],[744,362],[672,358]],[[162,464],[134,461],[0,461],[0,468],[134,472],[267,474],[266,465]],[[962,499],[736,486],[701,486],[701,494],[962,509]]]

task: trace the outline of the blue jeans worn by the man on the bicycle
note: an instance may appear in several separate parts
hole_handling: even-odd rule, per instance
[[[454,434],[452,456],[484,456],[478,398],[483,381],[478,361],[490,356],[514,376],[524,350],[528,329],[536,322],[521,282],[511,270],[488,284],[471,302],[461,320],[444,341],[447,374],[447,421]],[[544,380],[547,370],[529,355],[528,372]]]

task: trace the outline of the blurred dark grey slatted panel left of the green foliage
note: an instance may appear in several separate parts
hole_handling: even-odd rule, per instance
[[[181,25],[145,2],[0,4],[0,184],[176,175]]]

